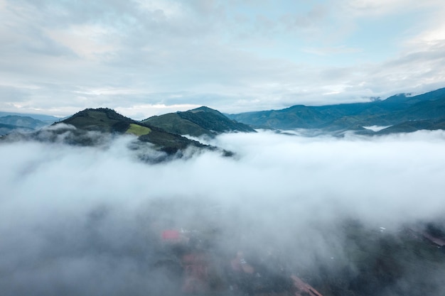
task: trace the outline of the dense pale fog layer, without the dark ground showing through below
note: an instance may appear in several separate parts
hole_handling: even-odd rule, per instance
[[[336,261],[358,273],[344,221],[396,235],[445,216],[445,131],[231,133],[210,143],[234,157],[158,164],[141,162],[132,141],[1,143],[1,295],[175,295],[176,282],[153,268],[159,229],[212,227],[214,248],[274,250],[295,272]],[[438,268],[430,285],[444,292]],[[410,280],[380,295],[412,289]]]

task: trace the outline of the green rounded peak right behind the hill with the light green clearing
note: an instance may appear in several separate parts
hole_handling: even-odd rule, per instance
[[[220,111],[201,106],[188,111],[152,116],[141,124],[157,126],[170,133],[189,136],[215,136],[227,132],[254,132],[246,124],[227,118]]]

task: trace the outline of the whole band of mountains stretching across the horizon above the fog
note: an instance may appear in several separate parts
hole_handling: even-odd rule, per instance
[[[255,132],[254,128],[307,128],[333,134],[354,131],[363,135],[445,129],[445,88],[416,96],[397,94],[385,100],[367,103],[295,105],[286,109],[241,114],[222,114],[201,106],[188,111],[151,116],[142,121],[129,119],[107,108],[85,109],[61,121],[53,116],[0,112],[0,136],[12,131],[35,131],[31,134],[38,137],[42,133],[38,131],[40,128],[55,121],[53,126],[64,123],[77,128],[71,138],[65,138],[70,143],[95,143],[92,138],[85,136],[87,133],[74,136],[80,131],[134,133],[139,141],[152,143],[157,149],[171,154],[188,146],[205,146],[183,136],[213,137],[227,132]],[[55,133],[55,129],[52,130]],[[58,133],[61,131],[63,128],[58,129]]]

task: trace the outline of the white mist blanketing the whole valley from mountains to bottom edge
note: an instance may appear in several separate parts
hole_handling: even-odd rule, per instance
[[[136,139],[1,143],[3,295],[444,292],[444,131],[223,133],[230,157],[161,163]]]

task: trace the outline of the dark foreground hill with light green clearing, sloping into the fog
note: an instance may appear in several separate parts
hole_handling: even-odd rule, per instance
[[[5,141],[62,141],[76,146],[106,146],[114,135],[126,133],[138,137],[130,148],[136,151],[139,158],[147,161],[161,161],[166,158],[166,156],[160,154],[155,153],[156,155],[154,155],[154,150],[166,155],[181,155],[183,150],[189,147],[220,150],[178,134],[168,133],[156,126],[141,124],[108,108],[85,109],[68,119],[41,128],[39,131],[11,133],[1,139]],[[221,150],[221,152],[226,156],[232,154],[226,150]]]

